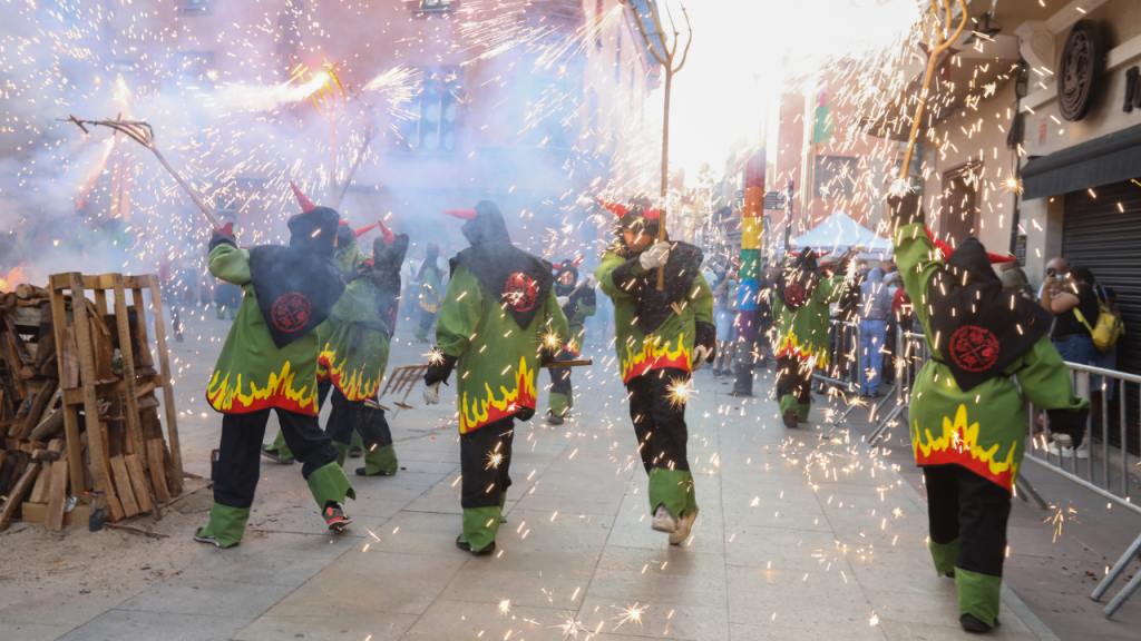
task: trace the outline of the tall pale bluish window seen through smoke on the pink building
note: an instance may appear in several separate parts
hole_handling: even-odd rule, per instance
[[[459,147],[460,97],[463,71],[456,66],[421,70],[423,81],[408,111],[419,117],[406,120],[395,147],[406,152],[452,153]]]

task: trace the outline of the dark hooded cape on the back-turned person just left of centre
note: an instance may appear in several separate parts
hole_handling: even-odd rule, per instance
[[[511,244],[495,203],[482,201],[476,212],[461,228],[471,246],[450,261],[451,273],[454,275],[460,265],[467,267],[525,330],[543,309],[555,284],[552,266]]]

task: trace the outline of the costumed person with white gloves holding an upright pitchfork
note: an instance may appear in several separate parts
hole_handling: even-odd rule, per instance
[[[617,217],[618,237],[602,254],[594,279],[614,302],[617,365],[649,476],[650,527],[678,545],[698,513],[686,454],[686,395],[690,374],[717,355],[713,292],[701,274],[699,249],[655,241],[658,209],[641,198],[599,202]]]

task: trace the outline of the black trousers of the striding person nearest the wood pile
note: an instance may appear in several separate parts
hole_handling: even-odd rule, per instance
[[[249,508],[261,476],[261,439],[266,436],[269,411],[277,412],[285,445],[301,462],[301,474],[337,461],[337,448],[325,436],[316,416],[276,407],[225,414],[221,419],[221,443],[215,471],[215,501],[230,508]]]

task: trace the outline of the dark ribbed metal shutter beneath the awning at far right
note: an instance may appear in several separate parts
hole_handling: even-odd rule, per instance
[[[1089,267],[1102,286],[1117,292],[1117,307],[1125,319],[1117,368],[1141,374],[1141,185],[1130,180],[1094,187],[1093,192],[1097,197],[1090,192],[1066,194],[1062,255],[1070,267]],[[1138,454],[1141,390],[1133,384],[1125,389],[1130,452]],[[1118,404],[1115,398],[1110,405]],[[1116,416],[1112,408],[1111,416]],[[1116,430],[1111,431],[1110,443],[1118,445]]]

